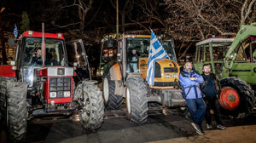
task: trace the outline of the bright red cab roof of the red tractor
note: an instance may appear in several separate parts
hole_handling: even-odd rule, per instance
[[[22,35],[20,35],[19,39],[22,37],[42,37],[42,32],[37,31],[25,31]],[[62,33],[44,33],[44,37],[46,38],[56,38],[56,39],[64,39]]]

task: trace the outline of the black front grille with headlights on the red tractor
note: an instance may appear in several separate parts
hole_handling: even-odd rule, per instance
[[[64,97],[65,91],[69,91],[69,92],[71,91],[70,77],[50,77],[49,78],[49,94],[51,92],[56,92],[55,98],[67,98],[67,97]]]

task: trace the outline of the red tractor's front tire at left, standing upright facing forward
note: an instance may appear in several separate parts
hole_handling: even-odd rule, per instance
[[[10,142],[25,142],[27,126],[26,83],[7,83],[7,127]]]

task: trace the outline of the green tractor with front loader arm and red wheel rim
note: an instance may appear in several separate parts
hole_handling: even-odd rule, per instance
[[[253,112],[256,91],[256,23],[243,25],[236,38],[209,38],[196,43],[194,66],[204,64],[221,83],[219,104],[223,115],[243,118]]]

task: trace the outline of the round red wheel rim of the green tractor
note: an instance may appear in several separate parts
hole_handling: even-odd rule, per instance
[[[224,109],[234,110],[239,106],[240,98],[236,92],[236,89],[225,87],[221,90],[219,97],[219,104]]]

